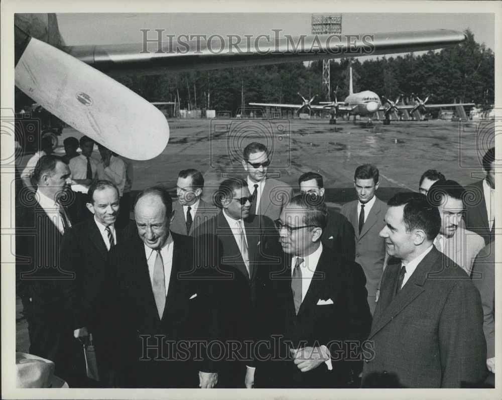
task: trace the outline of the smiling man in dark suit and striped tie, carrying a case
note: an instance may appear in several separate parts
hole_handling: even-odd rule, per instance
[[[61,243],[61,264],[65,270],[75,273],[73,289],[67,299],[73,311],[73,332],[69,334],[86,341],[91,333],[97,358],[101,355],[99,350],[103,346],[98,316],[102,306],[102,284],[107,269],[108,251],[136,234],[136,224],[133,221],[123,229],[115,226],[119,213],[118,193],[118,188],[112,182],[94,181],[87,193],[87,208],[94,217],[73,225],[65,232]],[[81,346],[77,347],[76,378],[80,380],[79,385],[86,386],[93,382],[85,378],[82,349]],[[103,367],[100,368],[103,364],[99,361],[98,359],[100,382],[106,382],[106,371]]]

